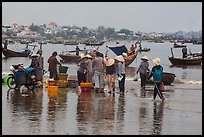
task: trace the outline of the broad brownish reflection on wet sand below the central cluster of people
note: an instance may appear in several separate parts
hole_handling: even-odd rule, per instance
[[[105,134],[113,132],[115,98],[95,92],[81,92],[77,104],[79,134]],[[91,131],[91,133],[87,133]],[[105,132],[104,132],[105,131]]]

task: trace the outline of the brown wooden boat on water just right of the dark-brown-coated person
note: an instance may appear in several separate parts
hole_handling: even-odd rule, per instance
[[[62,62],[67,63],[78,63],[80,62],[81,57],[75,54],[59,54]]]

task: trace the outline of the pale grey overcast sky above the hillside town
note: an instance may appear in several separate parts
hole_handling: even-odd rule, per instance
[[[129,29],[167,33],[202,30],[202,2],[2,2],[2,25]]]

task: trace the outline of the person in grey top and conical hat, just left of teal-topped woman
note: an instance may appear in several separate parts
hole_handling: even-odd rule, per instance
[[[137,74],[138,72],[140,73],[140,79],[141,79],[141,88],[145,88],[145,85],[147,83],[147,72],[150,71],[149,69],[149,62],[148,62],[148,57],[145,55],[141,57],[142,62],[140,63]]]

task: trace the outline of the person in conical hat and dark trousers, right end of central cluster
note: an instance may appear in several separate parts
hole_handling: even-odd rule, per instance
[[[119,55],[115,57],[115,61],[119,90],[120,92],[125,92],[125,59],[122,55]]]

